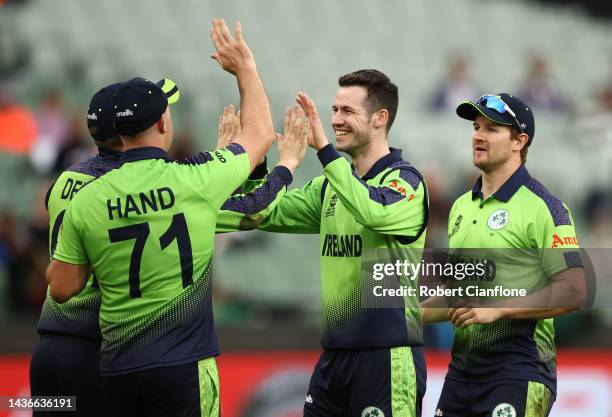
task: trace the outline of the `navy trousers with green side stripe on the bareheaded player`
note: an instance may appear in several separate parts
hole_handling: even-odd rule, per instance
[[[419,417],[425,380],[420,347],[324,350],[304,417]]]

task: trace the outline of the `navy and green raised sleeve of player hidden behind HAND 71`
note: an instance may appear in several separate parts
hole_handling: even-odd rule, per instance
[[[277,166],[250,191],[232,195],[219,211],[216,233],[255,229],[274,210],[292,180],[287,168]]]

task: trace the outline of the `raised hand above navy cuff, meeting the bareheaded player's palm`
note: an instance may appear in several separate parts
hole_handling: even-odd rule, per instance
[[[284,135],[276,134],[278,139],[278,165],[283,165],[291,172],[295,171],[304,160],[308,137],[312,136],[310,122],[305,120],[304,112],[298,107],[285,111]]]

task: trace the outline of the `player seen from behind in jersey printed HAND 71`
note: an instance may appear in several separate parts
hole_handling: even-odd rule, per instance
[[[240,24],[234,39],[225,22],[213,20],[211,36],[213,58],[238,81],[242,131],[235,143],[169,161],[173,129],[165,95],[143,79],[121,84],[114,96],[121,167],[76,194],[47,270],[58,302],[81,291],[90,269],[97,277],[100,369],[118,416],[219,413],[210,278],[215,225],[274,130]]]

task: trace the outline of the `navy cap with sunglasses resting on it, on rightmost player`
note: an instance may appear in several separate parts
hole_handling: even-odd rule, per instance
[[[484,97],[484,96],[483,96]],[[476,120],[478,116],[484,116],[492,122],[507,125],[516,126],[517,122],[520,125],[523,133],[526,133],[529,137],[527,146],[531,145],[533,136],[535,135],[535,120],[533,112],[527,104],[515,95],[508,93],[499,93],[497,97],[500,98],[508,107],[514,112],[516,116],[516,122],[514,117],[508,112],[499,113],[495,109],[486,107],[476,102],[464,101],[457,107],[457,115],[463,119]]]

